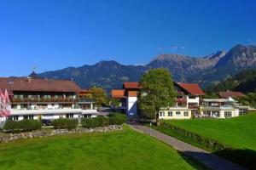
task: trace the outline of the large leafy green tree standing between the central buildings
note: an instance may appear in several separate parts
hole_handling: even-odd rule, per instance
[[[158,120],[161,107],[172,106],[176,98],[170,71],[160,68],[145,73],[140,81],[138,106],[144,116]]]

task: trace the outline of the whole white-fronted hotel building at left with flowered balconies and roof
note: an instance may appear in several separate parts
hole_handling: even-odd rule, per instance
[[[94,117],[94,101],[79,96],[82,89],[67,80],[48,80],[33,77],[0,78],[0,88],[7,89],[11,101],[11,115],[6,119],[40,119]]]

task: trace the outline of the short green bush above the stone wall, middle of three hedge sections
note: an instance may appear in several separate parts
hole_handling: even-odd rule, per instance
[[[51,122],[51,124],[55,128],[67,128],[68,130],[74,129],[78,126],[78,120],[77,119],[55,119]]]

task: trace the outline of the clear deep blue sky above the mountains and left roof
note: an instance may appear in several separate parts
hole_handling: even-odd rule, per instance
[[[256,2],[1,0],[0,77],[256,44]]]

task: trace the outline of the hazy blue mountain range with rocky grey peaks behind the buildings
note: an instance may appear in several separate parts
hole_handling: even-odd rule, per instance
[[[95,65],[46,71],[37,76],[69,79],[77,82],[81,88],[98,86],[109,92],[112,88],[121,88],[122,82],[139,81],[149,69],[161,67],[171,71],[173,79],[177,82],[196,82],[206,87],[224,81],[240,71],[256,68],[256,47],[238,44],[228,52],[218,51],[202,58],[160,54],[148,65],[122,65],[113,60],[100,61]]]

